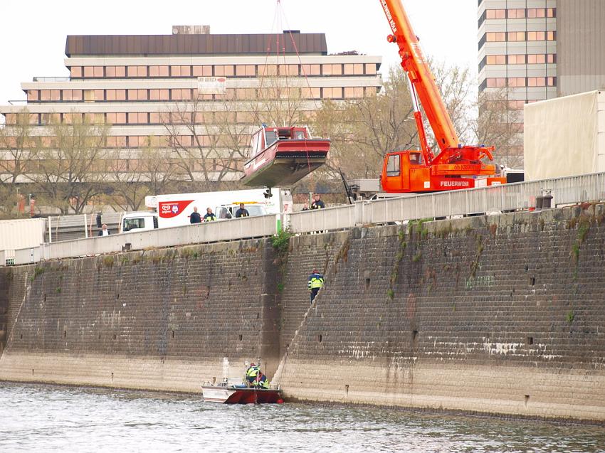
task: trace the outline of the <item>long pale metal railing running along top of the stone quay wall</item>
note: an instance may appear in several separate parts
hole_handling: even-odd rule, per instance
[[[401,196],[376,201],[359,201],[354,205],[300,213],[219,220],[201,225],[46,243],[40,247],[15,250],[14,264],[120,252],[127,244],[130,244],[128,246],[130,250],[144,250],[156,247],[263,238],[277,232],[279,220],[293,233],[305,234],[345,230],[356,225],[527,210],[535,208],[536,197],[545,192],[552,193],[554,206],[603,201],[605,200],[605,173],[444,193]],[[2,253],[6,255],[11,252],[8,250]],[[8,258],[8,255],[6,257]],[[0,260],[0,265],[5,265],[5,261]]]

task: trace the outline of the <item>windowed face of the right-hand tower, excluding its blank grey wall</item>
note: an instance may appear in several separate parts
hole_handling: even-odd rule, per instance
[[[478,6],[479,94],[506,101],[502,121],[512,135],[498,157],[520,166],[523,106],[557,97],[557,2],[479,0]]]

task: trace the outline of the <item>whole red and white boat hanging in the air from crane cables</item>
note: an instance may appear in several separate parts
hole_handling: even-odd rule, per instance
[[[312,137],[308,127],[267,127],[252,135],[251,158],[244,164],[246,186],[293,184],[325,164],[330,139]]]

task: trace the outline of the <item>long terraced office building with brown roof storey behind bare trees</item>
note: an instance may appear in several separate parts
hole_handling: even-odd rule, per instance
[[[41,137],[53,122],[110,124],[106,146],[120,159],[137,159],[148,146],[198,147],[216,155],[214,177],[230,152],[217,146],[223,122],[236,125],[243,149],[253,127],[270,123],[254,111],[263,85],[277,87],[284,102],[295,97],[305,117],[322,100],[359,99],[382,86],[379,56],[329,55],[323,33],[213,35],[206,26],[176,26],[164,36],[68,36],[65,55],[68,78],[23,82],[26,105],[0,106],[6,127],[23,107]],[[228,178],[239,178],[233,170],[244,160]]]

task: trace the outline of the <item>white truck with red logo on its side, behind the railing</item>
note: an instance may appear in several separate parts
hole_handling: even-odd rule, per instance
[[[204,217],[211,208],[216,220],[235,218],[240,203],[253,215],[292,212],[292,194],[285,188],[273,188],[272,196],[264,189],[202,193],[172,193],[145,197],[145,205],[154,210],[124,213],[120,233],[189,225],[194,208]]]

